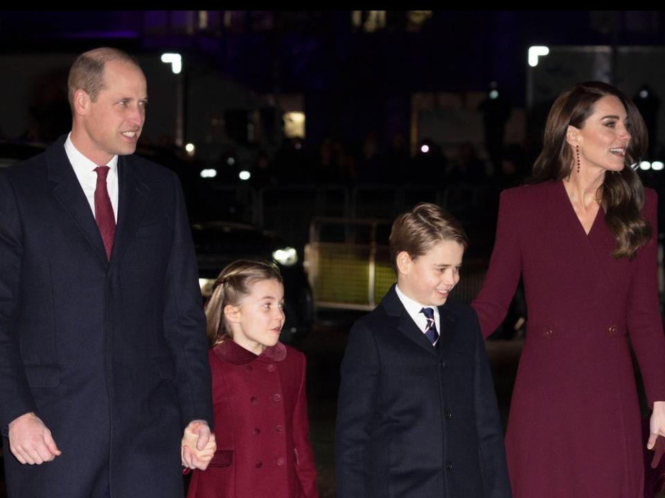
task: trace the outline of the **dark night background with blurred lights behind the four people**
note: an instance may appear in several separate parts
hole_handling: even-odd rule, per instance
[[[356,273],[362,280],[370,261],[369,293],[384,288],[387,223],[433,201],[470,234],[457,291],[470,300],[498,193],[529,174],[553,99],[576,82],[604,80],[635,100],[651,142],[639,172],[662,190],[662,11],[0,11],[0,149],[69,131],[67,71],[97,46],[139,59],[150,98],[139,153],[177,170],[193,222],[268,228],[305,261],[317,307],[295,345],[308,355],[322,497],[335,496],[346,331],[380,298],[344,302],[326,276],[353,295],[345,285]],[[537,66],[527,64],[531,46],[549,48]],[[165,52],[181,55],[181,73],[161,62]],[[341,266],[323,264],[325,243],[339,244]],[[523,322],[518,293],[487,342],[504,423]]]

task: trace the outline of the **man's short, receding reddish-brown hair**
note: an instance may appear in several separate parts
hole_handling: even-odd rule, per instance
[[[82,53],[71,65],[67,80],[67,97],[72,112],[74,109],[74,93],[78,89],[85,90],[93,102],[97,100],[99,92],[104,88],[104,67],[107,62],[121,60],[134,64],[137,68],[139,61],[118,48],[100,47]]]

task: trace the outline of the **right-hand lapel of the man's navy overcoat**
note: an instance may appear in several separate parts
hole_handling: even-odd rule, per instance
[[[141,162],[134,156],[118,157],[118,224],[111,252],[112,265],[132,243],[136,226],[145,212],[150,197],[146,179]]]

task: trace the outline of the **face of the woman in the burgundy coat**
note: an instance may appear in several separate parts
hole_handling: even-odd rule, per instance
[[[581,128],[569,127],[569,143],[576,161],[576,145],[580,151],[580,169],[598,168],[621,171],[626,164],[630,142],[628,114],[614,95],[596,101],[594,112]]]

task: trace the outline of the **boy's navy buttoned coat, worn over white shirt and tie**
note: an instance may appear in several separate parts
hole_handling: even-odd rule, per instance
[[[511,496],[477,317],[450,299],[438,311],[438,349],[394,286],[353,325],[337,405],[339,498]]]

